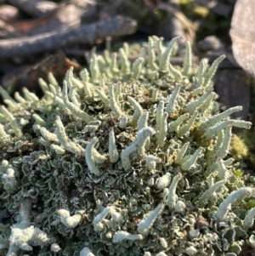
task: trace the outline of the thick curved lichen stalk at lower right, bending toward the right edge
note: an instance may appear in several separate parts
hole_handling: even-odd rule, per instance
[[[233,191],[231,194],[229,194],[229,196],[227,196],[224,199],[224,202],[222,202],[219,207],[218,207],[218,211],[216,213],[213,214],[213,217],[218,221],[222,221],[225,216],[226,213],[228,211],[229,205],[233,202],[235,202],[236,200],[241,200],[244,196],[250,195],[250,194],[254,194],[255,193],[255,189],[254,188],[249,188],[249,187],[244,187],[241,188],[237,191]]]

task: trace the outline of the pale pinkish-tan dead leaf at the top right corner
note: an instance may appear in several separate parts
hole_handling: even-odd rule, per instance
[[[255,77],[255,0],[237,0],[231,21],[230,36],[235,60]]]

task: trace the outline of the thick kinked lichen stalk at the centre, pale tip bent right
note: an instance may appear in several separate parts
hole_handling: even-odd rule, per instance
[[[132,154],[135,151],[142,152],[144,150],[144,144],[146,139],[148,139],[151,135],[155,134],[155,130],[153,128],[147,127],[147,128],[142,128],[139,130],[137,133],[137,136],[133,143],[125,150],[122,150],[121,158],[122,158],[122,165],[125,170],[131,168],[131,162],[129,159],[130,154]]]

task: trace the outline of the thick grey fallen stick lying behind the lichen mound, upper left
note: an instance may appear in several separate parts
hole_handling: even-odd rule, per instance
[[[90,43],[107,36],[117,37],[136,31],[137,22],[131,18],[116,16],[69,31],[54,31],[32,37],[0,40],[0,58],[36,54],[73,43]]]

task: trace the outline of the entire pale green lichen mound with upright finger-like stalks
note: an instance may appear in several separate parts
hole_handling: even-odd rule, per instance
[[[170,65],[178,38],[140,57],[94,55],[44,96],[1,88],[0,254],[228,255],[254,245],[252,184],[229,155],[211,66]]]

